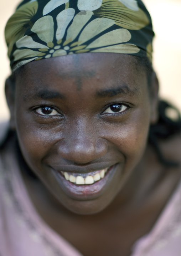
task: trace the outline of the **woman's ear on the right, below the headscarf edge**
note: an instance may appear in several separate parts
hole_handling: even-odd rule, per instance
[[[150,96],[151,96],[151,124],[155,124],[159,118],[158,113],[158,105],[159,105],[159,81],[157,79],[156,73],[152,72],[151,76],[151,88],[150,88]]]

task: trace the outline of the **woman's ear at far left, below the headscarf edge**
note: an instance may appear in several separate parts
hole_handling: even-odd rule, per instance
[[[5,94],[7,105],[10,110],[10,128],[15,130],[15,82],[10,78],[6,79]]]

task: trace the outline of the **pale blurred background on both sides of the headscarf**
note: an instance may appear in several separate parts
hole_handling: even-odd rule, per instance
[[[160,80],[160,95],[181,110],[181,0],[143,0],[148,7],[156,33],[154,67]],[[0,120],[8,119],[4,97],[5,78],[10,74],[4,41],[4,27],[19,0],[0,1]]]

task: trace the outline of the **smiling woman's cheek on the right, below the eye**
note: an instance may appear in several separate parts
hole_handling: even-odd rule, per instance
[[[122,157],[126,168],[134,168],[143,156],[147,141],[150,126],[149,111],[139,112],[130,118],[124,124],[120,124],[114,130],[109,141],[114,143]]]

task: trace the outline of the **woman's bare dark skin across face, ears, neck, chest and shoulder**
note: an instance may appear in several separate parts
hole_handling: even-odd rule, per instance
[[[163,167],[147,143],[157,119],[155,74],[148,88],[133,57],[84,53],[31,62],[16,78],[15,97],[10,88],[7,81],[11,128],[39,178],[22,171],[38,214],[84,256],[129,256],[180,178],[180,168]],[[113,104],[121,104],[119,113],[110,112]],[[180,159],[179,135],[160,145],[171,160]],[[110,166],[97,194],[89,185],[88,195],[70,195],[54,175]]]

